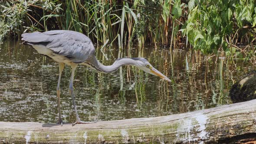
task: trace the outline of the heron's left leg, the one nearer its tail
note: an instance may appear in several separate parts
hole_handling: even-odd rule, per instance
[[[60,88],[59,88],[59,84],[60,84],[60,79],[61,79],[61,74],[62,71],[65,67],[64,63],[59,63],[59,80],[58,80],[58,85],[57,85],[57,97],[58,97],[58,113],[59,113],[59,120],[58,120],[58,124],[63,124],[62,119],[61,119],[61,113],[60,113]]]

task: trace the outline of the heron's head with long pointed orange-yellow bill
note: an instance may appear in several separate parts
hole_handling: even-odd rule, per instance
[[[167,80],[168,82],[171,82],[170,79],[168,79],[164,74],[159,72],[157,69],[155,69],[148,61],[144,58],[131,58],[135,60],[134,66],[136,66],[138,69],[143,70],[144,72],[150,73],[151,75],[159,76],[160,78]]]

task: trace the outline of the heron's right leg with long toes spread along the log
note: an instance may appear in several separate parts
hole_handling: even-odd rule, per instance
[[[70,84],[69,84],[69,92],[72,96],[72,101],[73,101],[73,105],[74,105],[74,110],[75,110],[75,116],[76,116],[76,122],[72,124],[72,126],[74,126],[75,124],[89,124],[89,123],[95,123],[96,121],[81,121],[79,118],[79,115],[77,113],[77,109],[76,109],[76,105],[75,105],[75,96],[73,93],[73,81],[74,81],[74,75],[75,75],[75,69],[77,67],[77,65],[71,65],[72,67],[72,74],[71,74],[71,78],[70,78]]]

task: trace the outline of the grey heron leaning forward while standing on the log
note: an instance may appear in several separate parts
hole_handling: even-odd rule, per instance
[[[76,115],[75,124],[87,124],[94,123],[81,121],[75,105],[75,98],[73,94],[73,81],[75,75],[75,69],[77,65],[82,64],[91,67],[99,72],[110,73],[115,72],[122,65],[133,65],[138,69],[148,72],[152,75],[156,75],[171,82],[164,74],[155,69],[146,59],[144,58],[120,58],[116,59],[112,65],[102,65],[94,56],[95,48],[91,39],[82,33],[69,30],[52,30],[44,33],[23,33],[22,35],[23,44],[33,46],[39,54],[43,54],[59,62],[59,80],[57,85],[57,97],[58,97],[58,123],[62,124],[61,113],[60,113],[60,79],[65,64],[71,66],[72,74],[69,84],[69,92],[72,97],[74,111]]]

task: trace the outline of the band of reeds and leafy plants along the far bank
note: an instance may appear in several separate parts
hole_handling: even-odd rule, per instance
[[[119,35],[141,47],[256,55],[256,0],[0,0],[0,9],[0,39],[68,29],[97,44]]]

